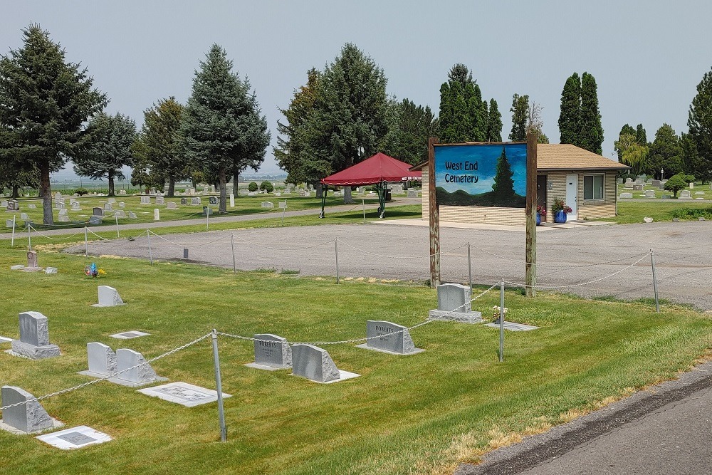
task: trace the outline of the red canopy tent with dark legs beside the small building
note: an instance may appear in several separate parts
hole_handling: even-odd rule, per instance
[[[362,184],[375,184],[378,192],[378,200],[380,207],[378,209],[379,217],[383,217],[383,212],[386,207],[386,188],[389,182],[405,182],[409,180],[422,180],[420,171],[410,171],[412,165],[406,162],[401,162],[393,157],[378,152],[373,157],[357,163],[352,167],[336,172],[326,178],[321,179],[321,184],[324,187],[324,193],[321,199],[320,218],[324,217],[324,207],[326,204],[326,192],[328,185],[335,187],[352,187]]]

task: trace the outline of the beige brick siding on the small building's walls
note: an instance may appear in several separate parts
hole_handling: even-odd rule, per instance
[[[428,197],[428,170],[423,172],[423,219],[429,219],[429,197]],[[544,174],[544,173],[542,173]],[[553,222],[554,217],[551,207],[555,198],[566,200],[566,175],[570,172],[547,172],[547,192],[545,221]],[[594,172],[578,172],[578,219],[609,218],[616,215],[616,171],[604,172],[603,199],[584,200],[583,199],[583,177]],[[525,224],[526,216],[522,208],[496,208],[496,207],[440,207],[440,220],[458,223],[482,223],[482,224],[509,224],[522,226]]]

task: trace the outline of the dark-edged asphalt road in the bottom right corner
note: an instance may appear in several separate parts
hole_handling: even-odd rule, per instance
[[[545,434],[461,465],[456,475],[712,472],[712,363]]]

